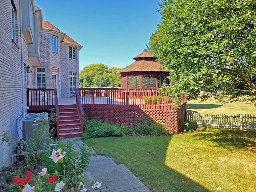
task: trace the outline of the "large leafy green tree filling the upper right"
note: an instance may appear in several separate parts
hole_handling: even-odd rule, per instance
[[[170,70],[163,92],[256,103],[256,0],[162,0],[149,49]]]

